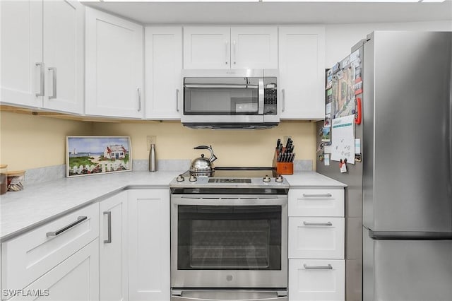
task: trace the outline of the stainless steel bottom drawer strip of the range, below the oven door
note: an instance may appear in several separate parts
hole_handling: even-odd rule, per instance
[[[184,296],[187,293],[188,296]],[[237,293],[237,299],[240,301],[287,301],[287,292],[280,294],[278,291],[271,292],[251,292],[251,291],[202,291],[202,290],[188,290],[188,291],[172,291],[171,301],[231,301],[231,293]],[[204,296],[203,296],[204,295]]]

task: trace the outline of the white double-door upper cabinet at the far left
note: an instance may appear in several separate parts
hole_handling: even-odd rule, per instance
[[[1,102],[83,113],[85,8],[1,1]]]

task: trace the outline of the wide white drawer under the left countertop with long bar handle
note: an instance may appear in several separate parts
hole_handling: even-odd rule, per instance
[[[2,289],[21,289],[99,236],[99,204],[1,244]]]

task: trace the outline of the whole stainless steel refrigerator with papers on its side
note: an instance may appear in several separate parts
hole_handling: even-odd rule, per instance
[[[352,47],[361,162],[316,162],[347,184],[347,301],[452,300],[451,49],[451,32],[376,31]]]

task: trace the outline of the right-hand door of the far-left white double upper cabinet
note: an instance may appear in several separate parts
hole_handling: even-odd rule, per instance
[[[73,0],[43,6],[44,107],[83,113],[85,7]]]

